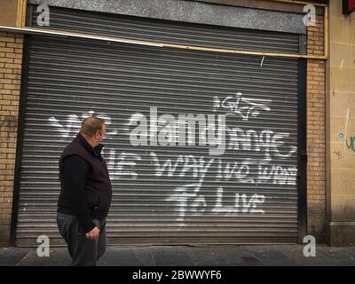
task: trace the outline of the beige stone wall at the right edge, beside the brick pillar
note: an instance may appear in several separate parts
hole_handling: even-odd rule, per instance
[[[327,60],[327,227],[331,244],[355,243],[355,3],[329,3]],[[351,12],[352,11],[352,12]],[[351,12],[351,13],[350,13]]]

